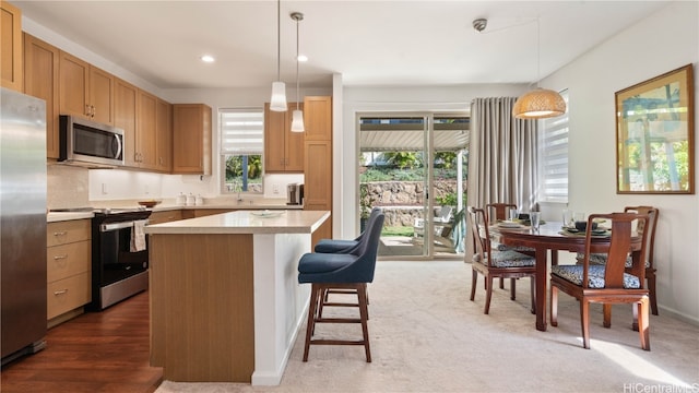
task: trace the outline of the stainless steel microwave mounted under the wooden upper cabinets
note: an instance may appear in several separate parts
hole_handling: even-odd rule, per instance
[[[122,166],[123,130],[75,116],[60,116],[59,162]]]

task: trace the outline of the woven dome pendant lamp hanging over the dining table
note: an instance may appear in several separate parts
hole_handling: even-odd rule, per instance
[[[536,85],[533,91],[521,95],[512,107],[512,116],[518,119],[544,119],[564,115],[566,102],[552,90],[538,87],[541,78],[541,27],[536,19]]]

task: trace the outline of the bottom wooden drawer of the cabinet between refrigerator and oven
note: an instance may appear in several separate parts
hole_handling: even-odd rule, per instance
[[[80,273],[48,285],[46,319],[50,320],[90,302],[90,273]]]

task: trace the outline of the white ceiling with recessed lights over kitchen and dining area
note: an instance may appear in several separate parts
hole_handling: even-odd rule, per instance
[[[276,1],[11,1],[25,17],[161,88],[276,80]],[[666,1],[281,2],[282,80],[301,87],[534,83]],[[472,21],[488,19],[477,33]],[[536,22],[538,19],[538,23]],[[537,64],[537,25],[541,63]],[[204,64],[199,58],[213,55]]]

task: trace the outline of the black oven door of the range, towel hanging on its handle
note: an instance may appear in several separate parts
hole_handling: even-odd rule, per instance
[[[147,270],[147,237],[144,236],[143,239],[146,245],[144,249],[132,248],[133,226],[133,221],[99,226],[99,286],[114,284]]]

